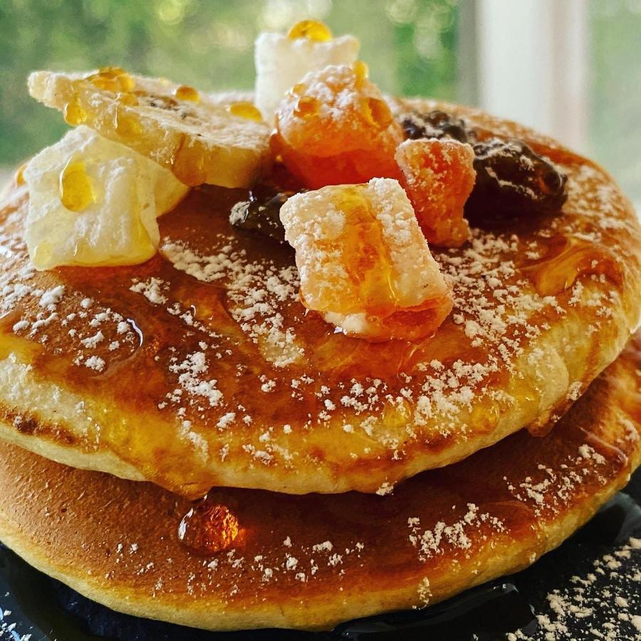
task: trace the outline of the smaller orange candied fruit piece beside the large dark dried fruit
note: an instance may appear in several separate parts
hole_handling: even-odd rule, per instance
[[[463,206],[474,187],[474,150],[458,140],[406,140],[396,151],[401,183],[429,243],[459,247],[469,239]]]

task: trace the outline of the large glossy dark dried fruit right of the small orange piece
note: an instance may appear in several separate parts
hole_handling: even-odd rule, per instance
[[[492,138],[472,146],[476,182],[465,214],[474,222],[561,209],[566,175],[523,142]]]

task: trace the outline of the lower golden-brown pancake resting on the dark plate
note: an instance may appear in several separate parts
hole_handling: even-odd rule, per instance
[[[548,436],[522,430],[389,496],[212,491],[183,521],[190,545],[226,546],[209,556],[179,541],[185,499],[6,444],[0,539],[110,608],[214,630],[436,603],[533,563],[626,483],[640,366],[637,335]]]

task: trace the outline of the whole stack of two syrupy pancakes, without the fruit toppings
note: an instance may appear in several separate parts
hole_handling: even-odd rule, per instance
[[[198,187],[142,266],[36,272],[0,204],[0,540],[115,610],[327,628],[518,570],[641,460],[641,229],[598,165],[560,214],[436,250],[454,311],[417,343],[335,333],[293,251]],[[523,429],[526,428],[526,429]],[[205,496],[206,495],[206,496]],[[203,498],[205,497],[205,498]]]

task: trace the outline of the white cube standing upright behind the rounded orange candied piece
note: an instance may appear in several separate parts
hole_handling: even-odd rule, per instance
[[[301,32],[303,33],[303,32]],[[296,35],[294,33],[293,35]],[[256,107],[268,123],[286,92],[309,71],[329,65],[350,65],[358,58],[360,42],[354,36],[318,40],[280,33],[261,33],[256,40]]]

